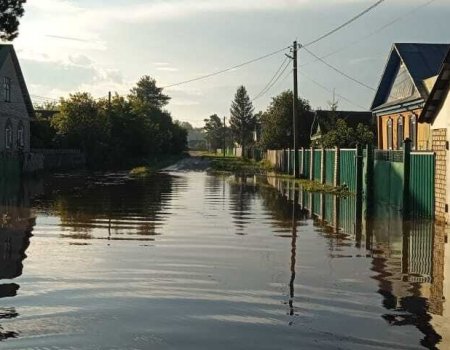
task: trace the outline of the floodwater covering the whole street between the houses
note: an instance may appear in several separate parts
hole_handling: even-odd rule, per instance
[[[443,227],[273,182],[2,183],[0,348],[450,349]]]

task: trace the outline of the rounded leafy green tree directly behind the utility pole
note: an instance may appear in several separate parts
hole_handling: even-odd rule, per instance
[[[261,141],[264,149],[292,148],[292,115],[293,115],[292,91],[287,90],[272,98],[267,110],[261,115]],[[298,116],[304,120],[311,112],[309,102],[299,99],[297,102]],[[309,139],[309,130],[304,133]],[[305,145],[306,140],[300,140]]]

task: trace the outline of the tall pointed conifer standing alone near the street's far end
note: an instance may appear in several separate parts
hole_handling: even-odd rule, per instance
[[[251,143],[253,131],[256,126],[256,118],[253,115],[254,108],[244,86],[240,86],[234,100],[231,103],[230,127],[235,141],[242,147],[242,156],[245,157],[247,145]]]

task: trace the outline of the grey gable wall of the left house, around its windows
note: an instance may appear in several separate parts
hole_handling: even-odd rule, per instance
[[[11,79],[11,102],[4,102],[3,78]],[[13,149],[17,148],[17,128],[22,121],[24,126],[25,151],[30,150],[30,117],[19,85],[16,70],[11,57],[0,67],[0,152],[5,150],[5,127],[7,120],[13,126]]]

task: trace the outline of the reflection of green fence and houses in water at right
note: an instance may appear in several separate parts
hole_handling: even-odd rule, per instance
[[[376,205],[370,217],[366,213],[365,218],[358,220],[352,197],[302,193],[287,180],[269,178],[268,181],[282,198],[306,208],[316,224],[331,233],[328,238],[332,258],[352,257],[339,254],[340,247],[351,242],[367,251],[365,255],[372,260],[375,272],[372,278],[378,282],[378,293],[387,310],[381,317],[390,326],[416,327],[423,334],[421,345],[426,348],[450,346],[449,326],[434,321],[449,320],[450,311],[448,305],[444,306],[445,293],[447,296],[449,293],[448,289],[444,290],[444,278],[447,285],[450,279],[444,226],[432,221],[404,221],[398,211]],[[261,194],[264,196],[264,192]],[[295,253],[294,237],[292,249]],[[363,255],[358,253],[358,256]],[[295,263],[295,255],[293,258]],[[292,276],[295,278],[295,269]],[[446,335],[447,339],[443,339]]]

